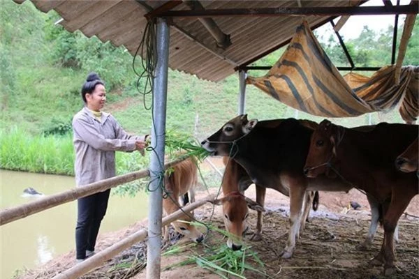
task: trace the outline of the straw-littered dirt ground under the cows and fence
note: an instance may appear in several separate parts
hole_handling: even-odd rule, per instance
[[[221,161],[212,162],[219,167]],[[204,167],[210,168],[209,165]],[[211,188],[211,193],[216,193]],[[202,191],[197,193],[196,199],[208,195]],[[254,187],[247,190],[246,195],[255,199]],[[354,210],[349,203],[358,202],[360,209]],[[265,199],[266,212],[263,214],[263,239],[250,241],[250,234],[245,237],[251,250],[257,253],[263,262],[263,267],[255,262],[248,264],[259,269],[262,273],[245,271],[246,278],[384,278],[382,266],[372,266],[369,260],[381,248],[383,229],[378,228],[373,245],[367,250],[357,248],[367,235],[369,206],[365,195],[358,190],[349,193],[320,193],[318,211],[311,211],[310,222],[300,235],[296,250],[291,259],[281,259],[279,253],[286,245],[288,235],[288,197],[274,190],[268,189]],[[214,212],[213,212],[214,210]],[[399,220],[399,243],[396,244],[397,272],[390,278],[419,278],[419,196],[409,204],[406,213]],[[223,229],[221,206],[205,204],[195,211],[196,218],[203,222],[211,222],[215,227]],[[115,243],[116,239],[123,239],[138,229],[145,227],[147,220],[136,223],[118,232],[100,234],[97,250],[103,250]],[[256,212],[250,211],[249,225],[256,228]],[[172,236],[174,234],[171,234]],[[184,239],[180,240],[184,242]],[[205,247],[219,247],[225,245],[226,239],[217,232],[210,231],[204,243],[186,248],[182,253],[163,256],[161,258],[161,278],[221,278],[221,276],[202,269],[196,264],[182,267],[170,267],[182,262],[189,255],[201,254]],[[82,278],[145,278],[145,243],[121,252],[115,259],[105,263],[103,267],[83,276]],[[19,278],[52,278],[57,273],[75,264],[74,251],[61,255],[48,262],[41,268],[27,271]]]

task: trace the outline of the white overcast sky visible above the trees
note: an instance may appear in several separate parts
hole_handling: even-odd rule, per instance
[[[410,0],[401,0],[400,5],[407,5],[410,3]],[[392,4],[396,5],[396,0],[392,0]],[[370,0],[362,6],[383,6],[382,0]],[[404,23],[404,15],[399,15],[399,26],[402,26]],[[338,19],[335,20],[335,24]],[[389,25],[393,26],[395,22],[395,15],[353,15],[349,17],[348,21],[339,31],[340,35],[345,39],[358,38],[363,27],[367,25],[369,29],[372,29],[378,33],[381,30],[387,29]],[[322,34],[323,38],[328,38],[325,36],[326,30],[331,31],[330,24],[325,24],[325,26],[317,29],[318,34]]]

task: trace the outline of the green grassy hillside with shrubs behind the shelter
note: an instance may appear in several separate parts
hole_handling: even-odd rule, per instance
[[[86,38],[79,31],[69,33],[59,24],[54,24],[57,20],[57,13],[41,13],[30,1],[21,5],[13,1],[1,1],[1,135],[19,130],[13,135],[28,138],[64,135],[64,141],[71,141],[66,134],[71,133],[72,116],[82,107],[82,83],[87,73],[93,70],[106,82],[108,104],[104,110],[114,114],[129,132],[150,133],[150,95],[143,98],[140,93],[144,81],[139,83],[140,90],[135,86],[138,77],[133,71],[133,57],[123,47],[101,43],[96,37]],[[404,64],[419,64],[418,24],[416,21]],[[398,33],[401,36],[402,27],[399,27]],[[320,38],[322,34],[316,35]],[[383,63],[390,63],[391,37],[390,27],[380,34],[365,27],[360,38],[347,41],[355,64],[383,66]],[[348,64],[336,38],[323,38],[322,41],[336,65]],[[278,50],[255,65],[272,65],[283,51]],[[140,59],[136,60],[134,66],[141,71]],[[249,73],[253,76],[263,74],[261,71]],[[198,138],[210,135],[237,114],[238,91],[237,75],[214,83],[169,70],[167,128],[181,130]],[[246,111],[250,118],[323,119],[297,112],[253,86],[247,86],[246,98]],[[402,122],[402,119],[394,111],[334,121],[346,126],[358,126],[369,121]],[[0,167],[13,169],[4,163],[15,154],[10,152],[13,142],[1,144]],[[64,152],[68,153],[68,144],[64,146]]]

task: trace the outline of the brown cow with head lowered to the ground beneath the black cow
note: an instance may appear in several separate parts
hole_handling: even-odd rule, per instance
[[[223,221],[227,232],[230,234],[227,241],[228,247],[233,250],[240,250],[240,248],[242,248],[242,236],[248,229],[246,222],[248,207],[258,211],[256,232],[251,236],[251,240],[260,241],[262,239],[262,212],[265,211],[263,206],[265,204],[266,188],[255,185],[256,203],[253,202],[243,194],[244,190],[247,190],[251,183],[253,183],[246,170],[229,157],[223,157],[223,163],[226,165],[223,181],[221,183],[223,197],[216,199],[214,203],[222,204],[223,206]],[[304,230],[311,204],[313,204],[314,210],[317,209],[318,193],[310,192],[309,195],[307,195],[307,201],[304,204],[300,231]]]

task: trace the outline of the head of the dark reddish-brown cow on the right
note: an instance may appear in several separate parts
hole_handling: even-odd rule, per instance
[[[336,167],[336,149],[344,136],[343,129],[328,120],[323,120],[314,130],[304,165],[304,174],[307,177],[317,177],[320,174],[326,174],[328,177],[336,176],[330,167],[332,165]]]

